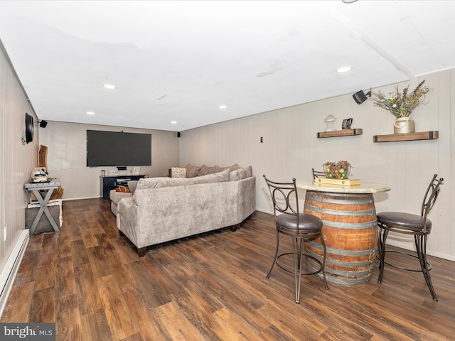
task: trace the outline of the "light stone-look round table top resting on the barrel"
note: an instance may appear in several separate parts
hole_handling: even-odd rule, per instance
[[[314,181],[296,180],[297,188],[328,193],[380,193],[387,192],[390,187],[382,183],[365,183],[360,185],[334,185],[330,183],[315,183]]]

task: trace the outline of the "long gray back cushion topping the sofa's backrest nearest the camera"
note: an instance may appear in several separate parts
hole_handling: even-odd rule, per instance
[[[143,178],[137,184],[137,190],[146,188],[172,187],[182,185],[196,185],[198,183],[221,183],[229,181],[229,170],[198,176],[194,178]]]

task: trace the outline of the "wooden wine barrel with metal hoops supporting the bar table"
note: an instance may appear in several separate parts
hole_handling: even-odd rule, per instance
[[[372,193],[328,193],[306,190],[304,213],[323,222],[326,278],[355,285],[370,280],[378,249],[378,220]],[[306,252],[322,259],[319,239],[306,242]],[[317,264],[308,263],[310,268]]]

